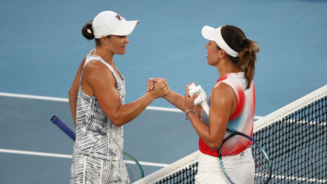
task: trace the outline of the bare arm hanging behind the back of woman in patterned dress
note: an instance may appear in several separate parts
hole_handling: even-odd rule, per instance
[[[79,65],[79,68],[78,68],[76,76],[74,78],[72,87],[68,91],[69,107],[70,107],[70,111],[73,116],[75,127],[76,127],[76,104],[77,104],[77,94],[78,94],[78,88],[79,88],[79,78],[80,78],[81,72],[83,70],[85,59],[86,58],[84,58],[82,63]]]

